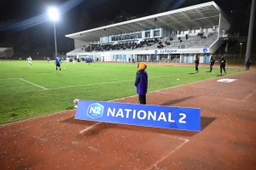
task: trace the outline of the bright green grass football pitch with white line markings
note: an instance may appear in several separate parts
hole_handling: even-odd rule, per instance
[[[148,65],[148,93],[219,76],[219,65],[212,73],[200,66],[195,74],[191,66]],[[71,110],[73,99],[109,101],[137,95],[137,64],[64,61],[60,72],[54,61],[32,61],[28,67],[26,60],[19,60],[0,62],[0,72],[0,124]]]

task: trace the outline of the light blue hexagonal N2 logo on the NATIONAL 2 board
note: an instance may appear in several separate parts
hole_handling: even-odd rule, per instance
[[[99,118],[103,115],[104,106],[98,103],[88,105],[87,116],[92,119]]]

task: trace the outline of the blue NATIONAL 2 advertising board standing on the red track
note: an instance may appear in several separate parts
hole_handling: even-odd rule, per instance
[[[79,100],[75,119],[201,131],[198,108]]]

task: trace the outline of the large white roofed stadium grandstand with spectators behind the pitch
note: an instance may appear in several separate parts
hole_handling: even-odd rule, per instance
[[[193,63],[199,54],[200,62],[208,63],[210,55],[234,37],[229,34],[230,23],[216,3],[201,3],[66,35],[74,39],[74,50],[67,56]]]

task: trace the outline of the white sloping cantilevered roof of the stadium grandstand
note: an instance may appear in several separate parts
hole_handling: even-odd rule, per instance
[[[229,17],[216,3],[201,3],[135,20],[79,31],[66,35],[66,37],[84,42],[96,42],[99,41],[99,37],[112,36],[121,32],[145,30],[145,28],[159,28],[160,26],[170,27],[174,31],[188,31],[189,29],[199,29],[206,26],[218,26],[219,14],[224,15],[224,18],[230,21]]]

